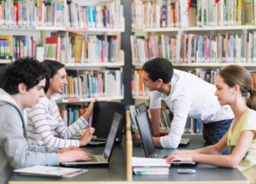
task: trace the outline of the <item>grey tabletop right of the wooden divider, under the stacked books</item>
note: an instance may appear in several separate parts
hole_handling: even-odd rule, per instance
[[[196,149],[206,146],[202,135],[183,135],[184,138],[190,138],[190,144],[178,149]],[[157,149],[157,154],[170,154],[175,149]],[[134,157],[145,157],[144,150],[140,147],[133,148]],[[195,174],[177,173],[177,169],[195,169]],[[198,163],[196,167],[170,167],[169,175],[155,176],[137,176],[133,175],[133,181],[182,181],[182,182],[230,182],[230,183],[248,183],[238,170],[213,167],[207,164]],[[222,181],[222,182],[221,182]],[[207,182],[206,182],[207,183]]]

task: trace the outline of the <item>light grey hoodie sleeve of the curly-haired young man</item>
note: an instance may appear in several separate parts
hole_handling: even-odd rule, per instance
[[[53,166],[60,163],[56,153],[31,151],[28,140],[24,137],[25,130],[17,110],[14,110],[11,106],[6,107],[1,114],[4,114],[4,116],[1,119],[0,139],[2,140],[2,149],[5,151],[11,167],[17,169],[34,165]],[[34,146],[34,148],[36,147]]]

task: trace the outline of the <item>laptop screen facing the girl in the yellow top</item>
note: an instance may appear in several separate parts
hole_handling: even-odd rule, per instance
[[[138,130],[141,135],[141,141],[144,147],[146,157],[154,157],[156,148],[154,147],[153,138],[151,136],[151,131],[148,126],[147,113],[139,113],[136,116],[138,122]]]

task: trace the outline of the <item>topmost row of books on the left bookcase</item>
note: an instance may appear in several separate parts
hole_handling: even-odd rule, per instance
[[[121,28],[123,6],[118,2],[80,6],[75,2],[43,0],[3,0],[0,25]]]

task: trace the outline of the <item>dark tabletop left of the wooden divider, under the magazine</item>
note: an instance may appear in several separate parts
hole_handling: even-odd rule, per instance
[[[126,179],[126,167],[125,167],[125,136],[123,136],[122,144],[115,145],[110,159],[109,167],[87,167],[89,171],[79,176],[72,178],[57,178],[49,176],[24,176],[18,173],[14,173],[11,176],[9,183],[21,183],[21,182],[32,182],[32,181],[44,181],[44,182],[105,182],[108,181],[124,181]],[[90,154],[102,154],[104,146],[99,147],[86,147],[84,148]]]

